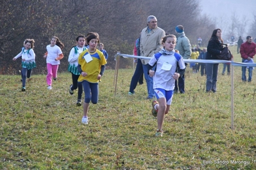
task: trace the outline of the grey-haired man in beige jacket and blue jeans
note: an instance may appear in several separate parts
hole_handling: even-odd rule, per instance
[[[166,32],[157,27],[157,18],[153,15],[148,16],[147,24],[148,26],[141,31],[141,56],[153,57],[155,53],[162,49],[162,38],[164,38]],[[155,91],[153,90],[153,78],[148,75],[148,62],[149,59],[141,59],[148,89],[148,97],[146,99],[152,99],[155,97]]]

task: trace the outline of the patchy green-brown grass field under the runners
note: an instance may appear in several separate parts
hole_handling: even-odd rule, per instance
[[[0,75],[0,169],[256,169],[256,78],[243,83],[234,68],[232,130],[231,81],[222,68],[217,93],[205,93],[206,78],[187,68],[186,92],[175,94],[163,137],[155,137],[146,84],[128,96],[133,69],[119,70],[116,95],[115,71],[105,71],[88,125],[77,91],[69,95],[70,73],[59,73],[51,91],[46,75],[32,75],[25,92],[19,75]]]

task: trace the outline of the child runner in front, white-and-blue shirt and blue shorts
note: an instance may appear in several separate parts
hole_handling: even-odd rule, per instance
[[[185,72],[183,58],[175,52],[176,36],[165,36],[162,45],[164,48],[156,53],[148,63],[151,69],[154,65],[157,65],[155,71],[149,69],[149,76],[153,77],[153,89],[158,100],[158,102],[157,100],[152,102],[152,114],[157,116],[157,132],[155,134],[157,137],[162,137],[164,114],[167,114],[170,109],[175,80]]]

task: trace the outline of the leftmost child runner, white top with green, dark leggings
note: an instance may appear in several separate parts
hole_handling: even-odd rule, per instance
[[[34,43],[35,41],[33,39],[26,39],[24,42],[24,47],[22,47],[21,49],[21,52],[13,58],[13,61],[15,61],[19,57],[22,58],[22,63],[21,63],[22,89],[21,91],[26,91],[26,78],[30,78],[32,69],[36,67],[35,52],[33,50]]]

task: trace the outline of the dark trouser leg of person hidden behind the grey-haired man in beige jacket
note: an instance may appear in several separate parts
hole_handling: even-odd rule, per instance
[[[135,72],[133,73],[133,76],[132,76],[129,92],[134,93],[134,89],[136,88],[140,77],[143,78],[143,67],[142,67],[141,59],[138,59]]]

